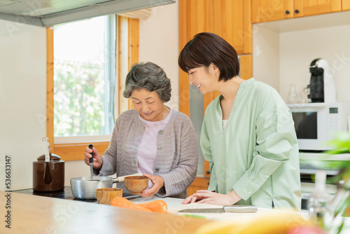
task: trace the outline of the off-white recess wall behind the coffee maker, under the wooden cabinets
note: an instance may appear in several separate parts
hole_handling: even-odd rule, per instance
[[[321,57],[330,65],[338,102],[350,102],[350,25],[280,34],[280,86],[286,98],[289,83],[297,92],[310,83],[309,64]]]

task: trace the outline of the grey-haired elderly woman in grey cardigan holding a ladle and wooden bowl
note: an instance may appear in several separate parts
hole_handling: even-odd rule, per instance
[[[120,177],[141,172],[150,179],[143,197],[186,198],[197,173],[197,142],[190,118],[165,106],[171,91],[170,79],[157,64],[132,66],[124,97],[132,99],[134,109],[118,117],[103,156],[94,148],[85,149],[87,165],[93,151],[94,174]]]

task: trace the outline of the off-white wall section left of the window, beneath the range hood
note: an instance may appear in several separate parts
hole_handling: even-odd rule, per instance
[[[0,190],[5,156],[12,157],[12,189],[30,188],[32,162],[46,135],[46,31],[0,20]]]

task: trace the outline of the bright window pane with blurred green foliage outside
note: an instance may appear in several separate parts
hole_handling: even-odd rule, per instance
[[[116,17],[54,27],[55,143],[111,139]]]

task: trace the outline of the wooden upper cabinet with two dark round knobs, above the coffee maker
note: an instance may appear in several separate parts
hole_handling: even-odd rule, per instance
[[[337,11],[342,11],[342,0],[252,0],[253,23]]]

